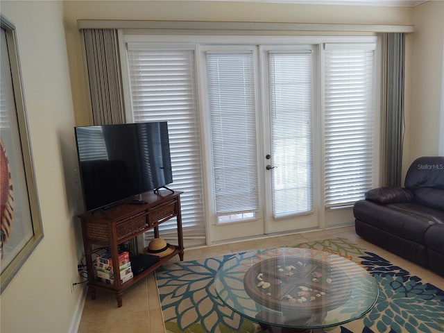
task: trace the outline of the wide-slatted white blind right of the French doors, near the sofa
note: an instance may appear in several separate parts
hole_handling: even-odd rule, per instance
[[[373,184],[374,45],[325,48],[325,205],[350,205]]]

